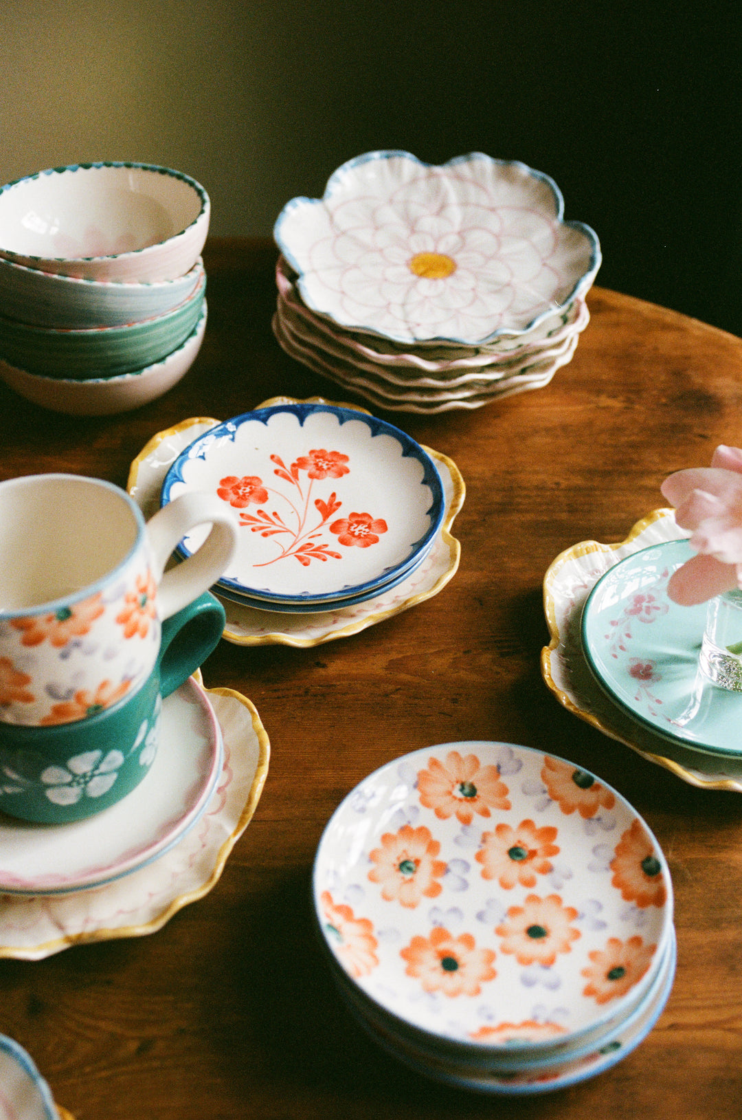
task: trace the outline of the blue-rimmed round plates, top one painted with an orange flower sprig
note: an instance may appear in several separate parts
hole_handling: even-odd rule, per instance
[[[210,428],[170,466],[162,505],[218,494],[242,541],[214,590],[259,610],[319,613],[375,598],[407,579],[445,514],[428,451],[365,411],[283,401]],[[180,545],[189,556],[200,531]]]

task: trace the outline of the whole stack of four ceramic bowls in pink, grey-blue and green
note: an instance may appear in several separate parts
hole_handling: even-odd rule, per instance
[[[206,329],[210,204],[147,164],[55,168],[0,189],[0,377],[60,412],[160,396]]]

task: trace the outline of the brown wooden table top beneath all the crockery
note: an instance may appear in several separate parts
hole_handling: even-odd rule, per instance
[[[124,486],[150,437],[188,417],[275,394],[353,400],[275,343],[271,245],[212,243],[205,260],[208,329],[186,379],[102,419],[0,386],[3,478],[68,470]],[[601,288],[589,305],[547,388],[473,412],[386,416],[466,479],[461,563],[439,596],[341,641],[222,642],[208,659],[205,683],[248,697],[271,741],[262,800],[210,894],[150,936],[0,960],[0,1032],[76,1120],[741,1114],[742,796],[695,788],[563,709],[539,654],[551,561],[577,541],[622,540],[664,504],[667,474],[742,442],[742,340]],[[355,1025],[312,940],[310,869],[339,801],[397,755],[462,739],[598,773],[648,821],[674,877],[677,977],[657,1026],[613,1070],[545,1098],[479,1096],[397,1064]]]

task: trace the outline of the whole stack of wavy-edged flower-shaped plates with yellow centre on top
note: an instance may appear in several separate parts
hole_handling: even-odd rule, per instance
[[[359,156],[322,198],[279,215],[275,336],[387,410],[475,409],[546,385],[588,325],[601,262],[563,208],[520,162]]]

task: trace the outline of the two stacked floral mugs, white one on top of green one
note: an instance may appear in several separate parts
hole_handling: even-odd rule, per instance
[[[235,521],[189,494],[144,523],[107,482],[45,474],[0,484],[0,811],[65,824],[149,773],[163,698],[222,636],[208,587]],[[201,548],[166,571],[198,525]]]

